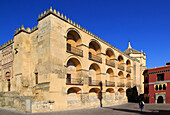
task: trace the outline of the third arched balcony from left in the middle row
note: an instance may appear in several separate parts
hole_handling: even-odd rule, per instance
[[[114,72],[111,68],[106,71],[106,87],[115,87]]]

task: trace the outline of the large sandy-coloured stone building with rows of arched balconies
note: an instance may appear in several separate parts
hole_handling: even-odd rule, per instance
[[[126,103],[143,94],[146,55],[120,51],[55,9],[0,47],[0,106],[26,112]]]

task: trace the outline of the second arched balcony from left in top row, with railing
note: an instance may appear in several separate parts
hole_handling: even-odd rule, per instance
[[[89,59],[102,63],[101,47],[97,41],[91,41],[89,43]]]

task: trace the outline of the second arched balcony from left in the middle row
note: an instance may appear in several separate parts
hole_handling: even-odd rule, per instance
[[[101,81],[99,65],[93,63],[89,68],[89,86],[99,86]]]

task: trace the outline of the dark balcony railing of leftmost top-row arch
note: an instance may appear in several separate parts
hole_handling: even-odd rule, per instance
[[[67,52],[83,57],[83,50],[71,46],[67,43]]]

